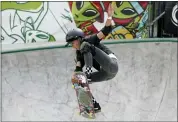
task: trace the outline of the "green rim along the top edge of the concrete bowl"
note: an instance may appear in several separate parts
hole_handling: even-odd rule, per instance
[[[101,43],[106,44],[106,45],[125,44],[125,43],[150,43],[150,42],[153,42],[153,43],[154,42],[178,42],[178,38],[146,38],[146,39],[123,39],[123,40],[101,41]],[[39,47],[40,44],[42,46]],[[16,45],[16,44],[13,44],[13,45]],[[19,45],[24,46],[25,44],[19,44]],[[1,54],[46,50],[46,49],[55,49],[55,48],[71,48],[71,46],[65,47],[65,44],[61,42],[33,43],[30,45],[32,45],[32,47],[24,46],[23,48],[20,48],[20,49],[6,49],[6,50],[1,49]]]

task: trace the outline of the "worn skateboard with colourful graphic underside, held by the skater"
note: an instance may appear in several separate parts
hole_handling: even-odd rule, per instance
[[[75,72],[75,78],[72,79],[72,87],[76,91],[79,104],[79,115],[90,119],[95,118],[92,94],[87,81],[87,77],[83,72]]]

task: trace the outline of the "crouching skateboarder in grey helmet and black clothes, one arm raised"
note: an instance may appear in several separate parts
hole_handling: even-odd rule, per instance
[[[114,9],[108,7],[108,18],[105,26],[97,33],[84,36],[81,29],[73,29],[66,34],[66,46],[71,44],[76,49],[75,71],[83,71],[91,82],[106,81],[114,78],[118,72],[117,58],[114,53],[100,41],[112,31],[112,14]],[[93,68],[97,71],[93,72]],[[95,111],[101,110],[99,103],[93,97]]]

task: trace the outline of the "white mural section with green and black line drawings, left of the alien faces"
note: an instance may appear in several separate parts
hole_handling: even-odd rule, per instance
[[[68,4],[65,3],[1,2],[2,44],[53,42],[60,34],[62,38],[58,39],[64,39],[66,25],[73,22],[69,9],[66,9]],[[57,11],[50,5],[54,8],[64,6],[61,7],[61,13],[56,14]]]

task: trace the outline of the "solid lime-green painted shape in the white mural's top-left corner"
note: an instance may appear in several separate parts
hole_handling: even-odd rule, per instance
[[[37,12],[43,5],[43,2],[1,2],[1,11],[7,10],[7,9],[16,9],[21,11],[33,11]]]

